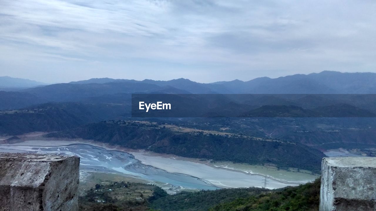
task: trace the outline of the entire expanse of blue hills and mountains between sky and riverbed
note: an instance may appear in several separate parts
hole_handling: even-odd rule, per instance
[[[6,81],[9,77],[0,78],[1,84],[9,86]],[[30,84],[33,87],[24,88],[20,82],[13,84],[17,91],[0,91],[0,135],[56,131],[50,137],[93,139],[185,157],[273,163],[318,172],[324,156],[320,150],[331,147],[327,143],[335,148],[363,144],[364,149],[376,144],[374,118],[351,119],[376,116],[375,82],[376,73],[330,71],[215,83],[197,83],[184,78],[170,81],[92,78],[50,85]],[[141,127],[136,122],[123,127],[124,124],[116,122],[133,120],[130,118],[132,94],[155,97],[165,93],[174,94],[164,95],[174,100],[171,103],[183,103],[185,106],[181,108],[200,114],[179,117],[241,118],[191,121],[190,118],[143,116],[144,119],[159,122],[161,126],[175,121],[172,123],[179,127],[226,131],[236,137],[180,134],[163,126]],[[258,153],[250,156],[250,151]]]

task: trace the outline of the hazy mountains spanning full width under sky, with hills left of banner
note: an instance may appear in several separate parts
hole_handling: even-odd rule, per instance
[[[169,81],[92,78],[45,85],[26,79],[0,77],[0,87],[17,89],[13,90],[14,92],[0,91],[0,110],[20,109],[45,102],[92,102],[100,101],[102,98],[107,101],[119,101],[124,95],[132,93],[374,94],[375,82],[376,73],[333,71],[215,83],[197,83],[184,78]]]

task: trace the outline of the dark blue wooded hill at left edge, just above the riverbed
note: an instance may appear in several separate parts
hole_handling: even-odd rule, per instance
[[[123,109],[122,105],[66,102],[35,105],[23,110],[0,111],[0,135],[67,130],[115,118],[124,112]]]

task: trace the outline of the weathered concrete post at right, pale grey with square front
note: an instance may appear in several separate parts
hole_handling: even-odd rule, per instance
[[[334,210],[376,210],[376,158],[323,158],[320,211]]]

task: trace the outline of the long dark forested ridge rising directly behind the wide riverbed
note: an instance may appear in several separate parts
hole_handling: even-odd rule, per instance
[[[105,121],[48,137],[82,138],[133,149],[180,155],[183,157],[233,161],[249,164],[276,164],[320,172],[324,154],[299,143],[261,140],[248,136],[181,133],[156,124],[135,121]]]

